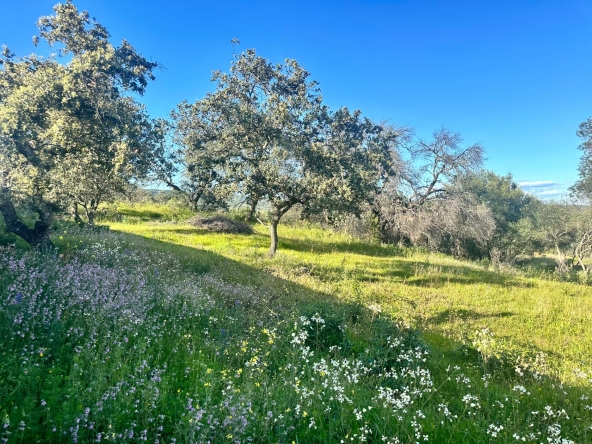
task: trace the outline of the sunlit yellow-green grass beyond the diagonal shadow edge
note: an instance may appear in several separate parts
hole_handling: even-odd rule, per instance
[[[254,236],[212,234],[186,225],[111,223],[116,231],[203,249],[277,277],[365,305],[416,328],[462,341],[482,327],[503,351],[548,356],[563,382],[592,360],[592,288],[484,270],[446,256],[357,242],[314,227],[280,226],[276,258],[266,228]]]

